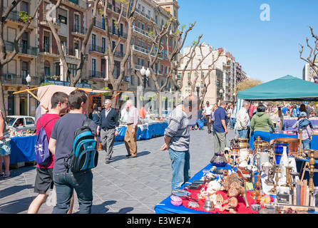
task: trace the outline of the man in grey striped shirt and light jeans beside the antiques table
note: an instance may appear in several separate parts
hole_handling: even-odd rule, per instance
[[[190,125],[198,119],[197,103],[195,95],[185,98],[183,104],[178,105],[171,113],[168,128],[165,129],[165,144],[160,150],[169,150],[173,169],[172,190],[177,190],[190,180]]]

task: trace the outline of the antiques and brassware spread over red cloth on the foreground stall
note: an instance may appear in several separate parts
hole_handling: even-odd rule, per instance
[[[299,146],[300,145],[300,146]],[[317,211],[318,188],[313,177],[317,150],[302,150],[294,138],[278,138],[270,143],[257,138],[250,149],[247,139],[230,140],[230,151],[216,152],[212,168],[202,170],[183,190],[172,192],[171,203],[201,212],[230,214],[298,214]],[[309,159],[297,172],[294,159]],[[303,177],[303,173],[302,173]],[[317,207],[316,207],[317,206]]]

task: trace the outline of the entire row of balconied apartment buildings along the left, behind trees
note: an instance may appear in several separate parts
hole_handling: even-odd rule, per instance
[[[4,37],[6,38],[6,50],[8,53],[13,50],[13,39],[19,32],[23,21],[19,16],[19,11],[33,13],[36,4],[39,1],[24,0],[16,6],[6,20]],[[27,95],[25,93],[13,94],[15,91],[27,88],[26,76],[32,78],[29,86],[35,88],[41,83],[55,83],[57,85],[68,86],[70,78],[64,74],[56,40],[51,28],[48,26],[48,10],[56,4],[56,0],[44,0],[40,6],[37,20],[34,20],[22,36],[18,55],[9,64],[4,66],[1,72],[4,83],[5,103],[9,115],[26,115],[27,113]],[[4,5],[6,7],[6,5]],[[105,21],[100,10],[108,7],[108,24],[105,27]],[[124,6],[127,7],[127,6]],[[161,28],[173,16],[178,18],[178,1],[167,0],[139,0],[135,12],[135,22],[133,25],[133,39],[127,43],[128,25],[125,16],[122,17],[120,24],[116,25],[114,21],[118,19],[120,4],[116,0],[103,0],[98,6],[98,17],[93,26],[88,45],[86,46],[86,63],[84,63],[83,74],[80,83],[91,88],[112,88],[109,81],[109,60],[108,46],[106,43],[105,31],[111,32],[111,47],[115,46],[118,37],[121,37],[121,43],[116,50],[114,78],[119,75],[120,61],[125,54],[127,45],[133,46],[133,58],[135,68],[140,70],[142,66],[148,67],[148,51],[150,50],[151,39],[149,32],[154,32],[153,26]],[[66,0],[61,2],[61,6],[53,11],[51,18],[54,27],[62,43],[63,53],[66,57],[68,70],[71,76],[76,74],[76,65],[80,61],[81,46],[83,38],[87,31],[88,23],[91,20],[93,10],[93,1],[86,0]],[[178,21],[173,24],[172,33],[178,28]],[[117,27],[120,33],[117,32]],[[172,51],[173,41],[170,38],[163,39],[163,46]],[[120,90],[136,90],[137,86],[143,86],[138,78],[131,74],[130,66],[127,64],[125,77]],[[168,61],[165,51],[160,54],[155,63],[155,72],[160,76],[160,85],[168,77],[170,70],[170,61]],[[165,88],[165,91],[174,90],[171,79]],[[155,83],[148,80],[147,90],[156,91]],[[37,101],[31,96],[30,114],[35,115]]]

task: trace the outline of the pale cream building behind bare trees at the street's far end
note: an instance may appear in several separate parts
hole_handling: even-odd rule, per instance
[[[189,53],[190,48],[183,48],[183,53]],[[212,51],[210,53],[210,51]],[[218,103],[220,100],[226,100],[227,102],[235,102],[235,86],[237,85],[237,63],[235,58],[227,50],[222,48],[214,49],[208,44],[202,44],[202,55],[200,49],[197,47],[195,50],[195,56],[193,58],[193,64],[188,65],[185,69],[185,76],[183,77],[183,88],[180,90],[183,98],[190,94],[198,95],[198,91],[195,89],[193,92],[191,89],[190,81],[194,83],[197,73],[194,69],[198,66],[200,60],[207,56],[204,61],[202,61],[200,67],[198,68],[198,73],[202,75],[198,76],[198,80],[195,83],[200,84],[199,88],[199,98],[202,98],[202,84],[208,84],[209,78],[207,78],[207,73],[209,72],[209,66],[213,63],[213,60],[217,58],[220,51],[223,51],[218,60],[215,62],[214,70],[210,73],[210,84],[207,86],[207,92],[203,99],[203,103],[208,100],[210,103]],[[183,60],[183,63],[178,69],[178,74],[180,76],[181,71],[185,68],[185,63],[188,58]],[[192,68],[192,71],[191,71]],[[205,78],[205,81],[202,81]]]

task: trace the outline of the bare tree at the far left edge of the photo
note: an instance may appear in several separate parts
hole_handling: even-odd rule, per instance
[[[17,53],[19,53],[19,40],[22,36],[22,34],[26,31],[26,29],[29,27],[31,22],[36,18],[37,11],[39,10],[39,7],[42,4],[42,1],[39,1],[39,3],[36,5],[36,9],[34,9],[34,13],[31,15],[24,14],[23,20],[24,20],[24,26],[18,33],[18,35],[14,38],[14,50],[11,52],[9,56],[7,56],[6,53],[6,44],[4,43],[4,22],[8,18],[11,11],[16,8],[16,6],[21,2],[21,0],[11,1],[11,4],[6,8],[6,11],[4,11],[4,1],[0,1],[0,71],[1,69],[10,61],[14,59],[14,56],[16,56]],[[2,80],[0,78],[0,83],[2,85]],[[0,86],[0,109],[1,112],[4,114],[4,118],[6,119],[6,109],[4,107],[4,90],[3,87]]]

